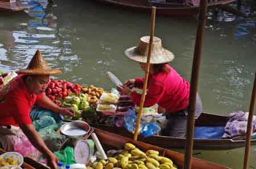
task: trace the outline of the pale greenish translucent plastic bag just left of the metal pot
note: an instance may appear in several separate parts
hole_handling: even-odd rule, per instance
[[[59,128],[60,124],[53,124],[39,131],[40,136],[51,151],[60,150],[63,142],[67,139],[66,136],[56,132]]]

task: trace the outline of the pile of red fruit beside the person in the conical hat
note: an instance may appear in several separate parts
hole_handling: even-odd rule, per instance
[[[78,95],[82,90],[82,86],[79,84],[73,84],[71,82],[63,80],[55,80],[51,78],[48,87],[46,88],[46,95],[54,103],[61,106],[60,99],[64,100],[65,97],[74,93]]]

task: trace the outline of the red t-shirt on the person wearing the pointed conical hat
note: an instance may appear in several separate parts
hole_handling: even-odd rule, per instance
[[[22,77],[23,75],[18,75],[10,82],[4,100],[1,100],[0,125],[32,124],[30,109],[44,94],[30,94]]]

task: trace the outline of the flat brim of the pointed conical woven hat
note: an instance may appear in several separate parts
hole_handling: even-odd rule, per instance
[[[28,74],[28,75],[50,75],[50,74],[60,74],[61,70],[58,69],[22,69],[16,71],[18,74]]]

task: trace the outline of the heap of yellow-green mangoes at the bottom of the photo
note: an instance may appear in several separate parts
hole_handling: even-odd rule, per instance
[[[148,150],[146,153],[131,143],[125,144],[125,149],[116,157],[94,162],[87,169],[177,169],[171,159],[162,157],[158,151]]]

